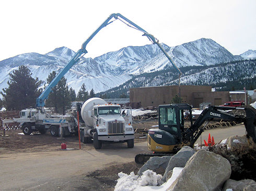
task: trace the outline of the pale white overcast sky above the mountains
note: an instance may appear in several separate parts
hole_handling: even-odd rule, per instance
[[[177,46],[209,38],[230,53],[256,50],[256,1],[1,1],[0,61],[24,53],[46,54],[57,47],[75,52],[112,13],[120,13],[160,43]],[[84,57],[151,42],[119,20],[103,28]]]

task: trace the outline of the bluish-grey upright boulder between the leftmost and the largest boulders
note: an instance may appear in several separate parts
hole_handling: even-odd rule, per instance
[[[179,152],[177,152],[176,155],[172,156],[168,166],[165,170],[165,174],[162,177],[162,181],[166,182],[167,179],[167,174],[169,171],[171,171],[174,167],[185,167],[185,164],[188,162],[190,157],[192,157],[195,154],[195,151],[189,147],[189,146],[184,146],[182,147]],[[170,177],[170,175],[168,176]]]

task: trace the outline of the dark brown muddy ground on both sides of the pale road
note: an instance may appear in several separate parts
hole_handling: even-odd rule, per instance
[[[51,136],[49,132],[43,135],[37,132],[31,135],[24,135],[19,129],[5,131],[5,134],[8,136],[3,137],[3,131],[0,131],[0,156],[2,154],[61,151],[61,143],[66,143],[67,148],[79,149],[78,136],[57,138]],[[145,134],[136,133],[134,142],[145,142],[146,138],[139,138],[144,136]],[[81,148],[83,150],[95,149],[92,144],[83,143],[81,143]],[[68,184],[63,182],[62,186],[58,187],[58,190],[114,190],[114,186],[117,184],[116,181],[119,178],[119,172],[130,173],[134,171],[137,173],[139,168],[141,168],[141,165],[137,165],[135,162],[109,165],[103,170],[70,177],[70,180],[73,181],[68,181]],[[92,182],[94,184],[91,184]],[[55,183],[51,184],[56,187]]]

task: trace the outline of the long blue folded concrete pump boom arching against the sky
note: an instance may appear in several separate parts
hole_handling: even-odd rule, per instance
[[[111,20],[112,18],[114,18],[114,20]],[[65,75],[65,73],[67,73],[67,71],[69,69],[71,69],[72,66],[75,65],[75,63],[77,63],[79,61],[79,59],[87,53],[86,50],[86,46],[87,44],[90,42],[90,40],[104,27],[107,27],[108,24],[112,23],[115,20],[121,20],[122,22],[124,22],[127,26],[132,27],[138,31],[143,32],[143,36],[147,36],[148,39],[153,43],[153,44],[157,44],[158,47],[162,50],[162,52],[165,54],[165,56],[168,58],[168,60],[172,63],[172,65],[174,66],[174,68],[179,72],[179,76],[182,74],[180,69],[175,65],[175,63],[171,60],[170,56],[167,54],[167,52],[165,51],[164,48],[162,48],[162,46],[158,43],[158,40],[152,35],[147,33],[144,29],[142,29],[141,27],[137,26],[137,24],[135,24],[134,22],[130,21],[129,19],[125,18],[124,16],[122,16],[121,14],[111,14],[99,27],[98,29],[92,33],[88,39],[83,43],[82,48],[79,49],[77,51],[77,53],[72,57],[71,60],[69,60],[69,62],[67,63],[67,65],[61,70],[61,72],[59,74],[56,75],[56,77],[51,81],[51,83],[45,88],[45,90],[40,94],[40,96],[37,98],[37,103],[36,103],[36,108],[42,108],[45,103],[45,99],[48,98],[48,95],[51,92],[51,88],[53,88],[60,80],[61,78]],[[126,21],[126,22],[125,22]]]

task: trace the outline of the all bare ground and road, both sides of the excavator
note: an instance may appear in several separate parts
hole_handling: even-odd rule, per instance
[[[79,150],[74,137],[25,136],[17,131],[0,138],[1,190],[113,190],[117,174],[136,171],[135,155],[147,151],[146,139],[141,142],[137,138],[134,148],[103,144],[102,149],[95,150],[92,144],[82,144]],[[231,135],[244,135],[245,127],[207,130],[202,141],[207,141],[208,133],[217,143]],[[61,150],[62,142],[75,149]]]

